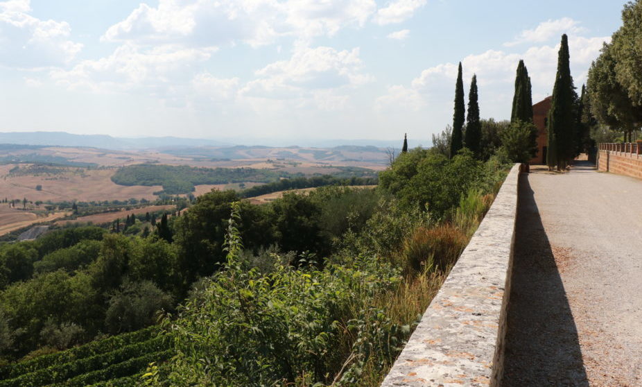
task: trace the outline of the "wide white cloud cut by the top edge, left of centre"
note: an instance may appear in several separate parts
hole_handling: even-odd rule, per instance
[[[363,26],[375,10],[374,0],[160,0],[157,7],[141,4],[111,26],[103,40],[261,46],[293,36],[307,42],[346,26]]]

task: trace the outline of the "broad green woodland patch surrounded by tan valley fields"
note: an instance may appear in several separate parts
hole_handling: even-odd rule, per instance
[[[196,168],[160,164],[123,166],[112,176],[121,185],[162,185],[169,195],[189,193],[197,184],[228,184],[233,182],[271,182],[287,178],[284,172],[252,168]]]

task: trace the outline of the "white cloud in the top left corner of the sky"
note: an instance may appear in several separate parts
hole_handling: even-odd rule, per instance
[[[83,48],[67,22],[29,15],[29,0],[0,3],[0,63],[21,69],[66,65]]]

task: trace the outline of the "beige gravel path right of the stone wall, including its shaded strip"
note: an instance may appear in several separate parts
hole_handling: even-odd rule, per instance
[[[503,386],[642,386],[642,180],[520,181]]]

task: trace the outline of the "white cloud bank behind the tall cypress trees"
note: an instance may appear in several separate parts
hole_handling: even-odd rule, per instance
[[[576,87],[585,82],[587,71],[600,53],[602,42],[609,37],[570,37],[571,74]],[[462,60],[465,94],[473,74],[477,75],[479,102],[482,117],[507,118],[510,114],[515,71],[520,59],[528,68],[532,82],[533,101],[537,102],[550,95],[557,71],[559,44],[531,46],[521,53],[507,53],[501,50],[487,50],[471,54]],[[376,99],[374,110],[381,111],[420,107],[433,122],[443,125],[452,119],[452,105],[457,77],[457,63],[442,63],[428,67],[414,78],[409,86],[390,87],[383,96]],[[446,96],[446,98],[444,98]],[[451,96],[451,98],[448,98]]]

